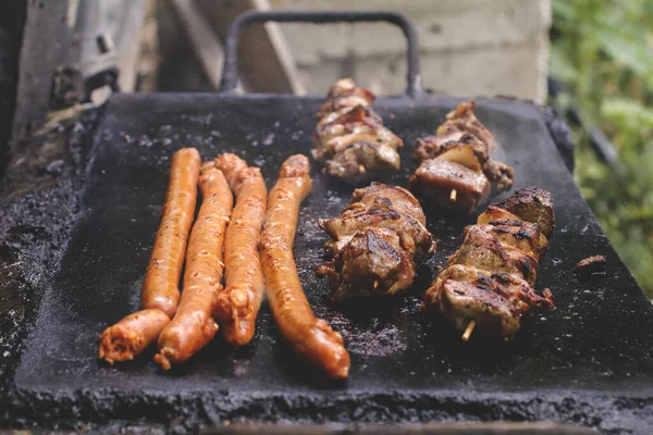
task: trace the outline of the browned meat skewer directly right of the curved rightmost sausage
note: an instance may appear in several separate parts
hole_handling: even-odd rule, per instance
[[[403,187],[356,189],[338,217],[318,224],[331,236],[325,248],[333,259],[317,273],[329,277],[335,301],[410,287],[417,263],[435,249],[419,202]]]

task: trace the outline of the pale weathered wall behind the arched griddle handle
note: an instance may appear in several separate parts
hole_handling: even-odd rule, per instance
[[[417,26],[424,87],[460,96],[543,101],[549,0],[270,0],[274,9],[403,12]],[[405,40],[390,24],[283,24],[309,90],[343,75],[380,94],[405,88]]]

